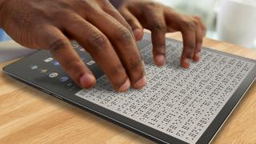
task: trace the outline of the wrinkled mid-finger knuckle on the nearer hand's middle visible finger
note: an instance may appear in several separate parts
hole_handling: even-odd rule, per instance
[[[89,44],[96,51],[105,50],[107,47],[108,39],[103,34],[94,32],[89,38]]]

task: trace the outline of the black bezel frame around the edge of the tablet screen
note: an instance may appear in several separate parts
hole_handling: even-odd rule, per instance
[[[144,38],[147,41],[150,41],[150,34],[145,33]],[[178,42],[177,40],[166,38],[170,42]],[[145,47],[148,46],[149,42],[141,42],[138,43],[139,46]],[[203,47],[203,50],[208,50],[214,53],[218,54],[224,54],[233,58],[242,59],[247,62],[254,62],[255,60],[249,59],[249,58],[243,58],[234,54],[228,54],[217,50],[212,50],[206,47]],[[40,51],[36,54],[40,55]],[[32,54],[33,55],[33,54]],[[26,61],[26,58],[23,58],[22,60],[18,62]],[[73,104],[74,106],[78,106],[84,110],[89,110],[93,114],[97,114],[98,116],[101,116],[102,118],[106,118],[110,122],[114,122],[118,124],[119,126],[123,126],[126,129],[133,130],[137,134],[141,134],[145,136],[146,138],[150,138],[156,142],[161,143],[177,143],[177,144],[183,144],[186,142],[183,142],[182,140],[178,138],[174,138],[168,134],[162,133],[159,130],[155,130],[154,128],[151,128],[150,126],[143,125],[140,122],[136,122],[133,119],[126,118],[125,116],[121,114],[117,114],[114,111],[108,110],[102,106],[98,106],[94,104],[93,102],[86,101],[83,98],[79,98],[77,96],[74,96],[74,92],[66,91],[66,90],[58,90],[58,85],[54,86],[47,86],[47,84],[42,85],[35,81],[33,78],[27,78],[25,75],[20,75],[17,73],[18,69],[15,68],[15,64],[18,62],[14,62],[13,64],[10,64],[9,66],[6,66],[3,70],[6,72],[6,74],[9,74],[10,76],[18,79],[19,81],[25,82],[26,84],[29,84],[30,86],[34,86],[38,90],[42,90],[46,92],[47,94],[53,95],[54,97],[60,98],[65,102],[69,102]],[[231,98],[226,102],[225,106],[222,108],[222,110],[218,113],[217,117],[214,118],[214,121],[210,123],[210,126],[206,129],[206,131],[202,134],[202,136],[198,139],[197,143],[206,143],[210,142],[215,134],[217,134],[218,130],[222,127],[224,122],[226,121],[226,118],[229,117],[231,112],[234,110],[235,106],[238,105],[238,102],[241,100],[241,98],[246,94],[246,91],[250,88],[250,86],[253,84],[254,80],[256,78],[256,65],[254,66],[253,70],[250,71],[250,74],[247,75],[247,77],[244,79],[242,84],[238,86],[238,89],[234,92],[234,94],[231,96]]]

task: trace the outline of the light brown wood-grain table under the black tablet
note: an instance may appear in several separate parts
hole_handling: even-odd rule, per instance
[[[256,50],[229,43],[205,39],[204,46],[256,59]],[[9,78],[2,73],[9,63],[0,64],[0,143],[153,143]],[[213,143],[256,143],[255,83]]]

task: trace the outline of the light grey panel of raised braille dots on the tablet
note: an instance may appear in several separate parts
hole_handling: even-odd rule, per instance
[[[254,63],[202,50],[200,62],[179,65],[182,45],[166,42],[166,65],[154,66],[152,46],[141,50],[147,85],[142,90],[115,92],[106,76],[78,97],[94,102],[184,142],[198,141]]]

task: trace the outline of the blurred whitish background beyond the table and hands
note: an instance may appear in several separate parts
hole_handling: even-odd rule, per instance
[[[256,0],[154,0],[182,14],[198,15],[206,38],[256,48]],[[0,41],[10,39],[0,29]]]

